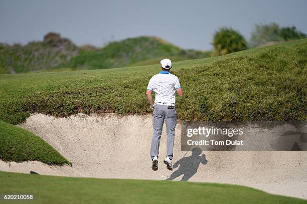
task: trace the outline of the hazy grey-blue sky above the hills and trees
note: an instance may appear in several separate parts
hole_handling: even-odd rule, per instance
[[[307,33],[306,10],[307,0],[0,0],[0,42],[26,44],[54,31],[77,45],[103,46],[145,35],[208,50],[222,26],[231,26],[247,40],[257,23],[294,25]]]

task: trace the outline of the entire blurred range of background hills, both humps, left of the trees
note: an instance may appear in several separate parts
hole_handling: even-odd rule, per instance
[[[49,33],[44,41],[31,42],[25,46],[0,43],[0,74],[107,69],[138,62],[144,65],[144,61],[147,64],[157,64],[160,58],[167,56],[176,56],[177,61],[180,61],[205,58],[210,54],[180,49],[156,37],[128,38],[109,43],[101,49],[89,45],[77,47],[69,39]]]

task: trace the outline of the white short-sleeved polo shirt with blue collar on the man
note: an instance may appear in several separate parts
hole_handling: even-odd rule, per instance
[[[151,77],[147,90],[156,92],[155,103],[175,104],[176,89],[181,88],[179,79],[170,72],[161,71],[159,74]]]

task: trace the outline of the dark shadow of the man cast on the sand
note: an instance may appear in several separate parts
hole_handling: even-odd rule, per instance
[[[206,155],[201,155],[201,153],[202,150],[199,147],[193,148],[191,156],[183,157],[173,165],[173,168],[177,168],[178,166],[179,168],[174,171],[166,180],[174,180],[182,174],[184,174],[181,179],[182,181],[189,180],[197,172],[200,163],[207,164],[208,162]]]

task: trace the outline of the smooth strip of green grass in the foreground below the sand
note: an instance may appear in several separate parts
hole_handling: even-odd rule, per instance
[[[34,194],[29,203],[306,203],[217,183],[72,178],[0,171],[0,194]]]

